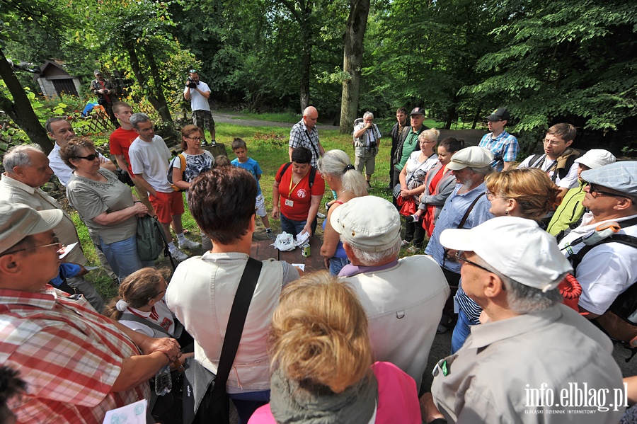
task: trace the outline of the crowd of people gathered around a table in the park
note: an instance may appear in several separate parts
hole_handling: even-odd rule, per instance
[[[205,119],[194,105],[210,91],[190,77],[184,96]],[[263,171],[243,139],[229,161],[202,149],[204,130],[187,125],[173,158],[149,116],[126,103],[112,110],[121,126],[110,152],[139,197],[61,118],[47,121],[49,158],[33,145],[3,158],[2,419],[101,423],[110,409],[151,399],[148,422],[173,422],[149,380],[188,361],[220,372],[254,266],[256,216],[275,237]],[[566,123],[546,132],[543,154],[520,161],[505,108],[470,147],[438,142],[423,108],[410,115],[411,125],[398,109],[391,130],[394,202],[369,195],[382,135],[372,113],[352,132],[353,164],[344,149],[323,149],[316,108],[292,127],[271,217],[314,236],[327,185],[326,270],[258,261],[225,385],[239,423],[617,423],[637,401],[609,338],[637,336],[637,161],[580,154]],[[71,218],[40,189],[53,173],[117,277],[106,305],[83,277]],[[202,256],[184,252],[200,244],[184,235],[183,192]],[[137,254],[137,218],[147,214],[180,261],[172,276]],[[401,249],[415,254],[400,258]],[[564,282],[573,280],[581,294],[569,307]],[[450,328],[450,355],[428,364],[436,334]]]

